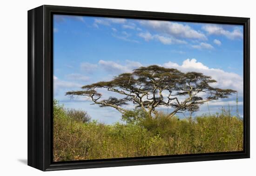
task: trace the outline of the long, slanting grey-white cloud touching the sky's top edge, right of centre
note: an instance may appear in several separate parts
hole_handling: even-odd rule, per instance
[[[155,31],[159,31],[176,38],[207,40],[207,37],[201,31],[195,31],[189,25],[157,20],[141,20],[140,23],[141,25],[148,26]]]

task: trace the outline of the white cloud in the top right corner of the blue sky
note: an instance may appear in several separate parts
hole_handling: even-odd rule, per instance
[[[209,35],[223,35],[232,40],[243,39],[243,32],[238,28],[233,29],[233,31],[228,31],[221,25],[204,25],[202,29],[207,31]]]

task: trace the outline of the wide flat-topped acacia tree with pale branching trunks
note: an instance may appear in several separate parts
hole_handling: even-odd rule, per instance
[[[227,98],[235,93],[232,89],[213,88],[209,84],[216,80],[211,76],[198,72],[182,73],[177,69],[169,69],[157,65],[140,67],[132,73],[115,76],[112,81],[97,82],[82,87],[80,91],[70,91],[66,95],[88,96],[100,107],[113,107],[120,113],[127,113],[124,108],[128,102],[141,108],[150,117],[157,114],[156,107],[172,107],[168,117],[184,111],[195,112],[204,102]],[[124,98],[109,97],[102,100],[97,88],[124,95]]]

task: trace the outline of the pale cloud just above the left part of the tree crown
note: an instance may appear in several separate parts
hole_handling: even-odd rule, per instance
[[[142,64],[139,62],[129,61],[129,60],[125,61],[125,66],[119,63],[115,63],[113,61],[104,61],[104,60],[100,60],[99,64],[106,71],[110,73],[117,73],[117,74],[124,73],[124,72],[132,72],[133,69],[136,69],[142,66]]]

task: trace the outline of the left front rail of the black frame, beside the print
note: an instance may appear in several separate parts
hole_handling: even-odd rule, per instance
[[[53,58],[52,50],[53,45],[51,42],[52,33],[53,33],[53,24],[51,20],[51,13],[47,11],[47,6],[43,6],[43,59],[44,59],[44,90],[43,90],[43,99],[44,99],[44,170],[49,168],[52,163],[52,140],[53,136],[51,131],[53,130],[53,119],[52,119],[52,108],[53,108]],[[50,96],[49,96],[50,95]]]

